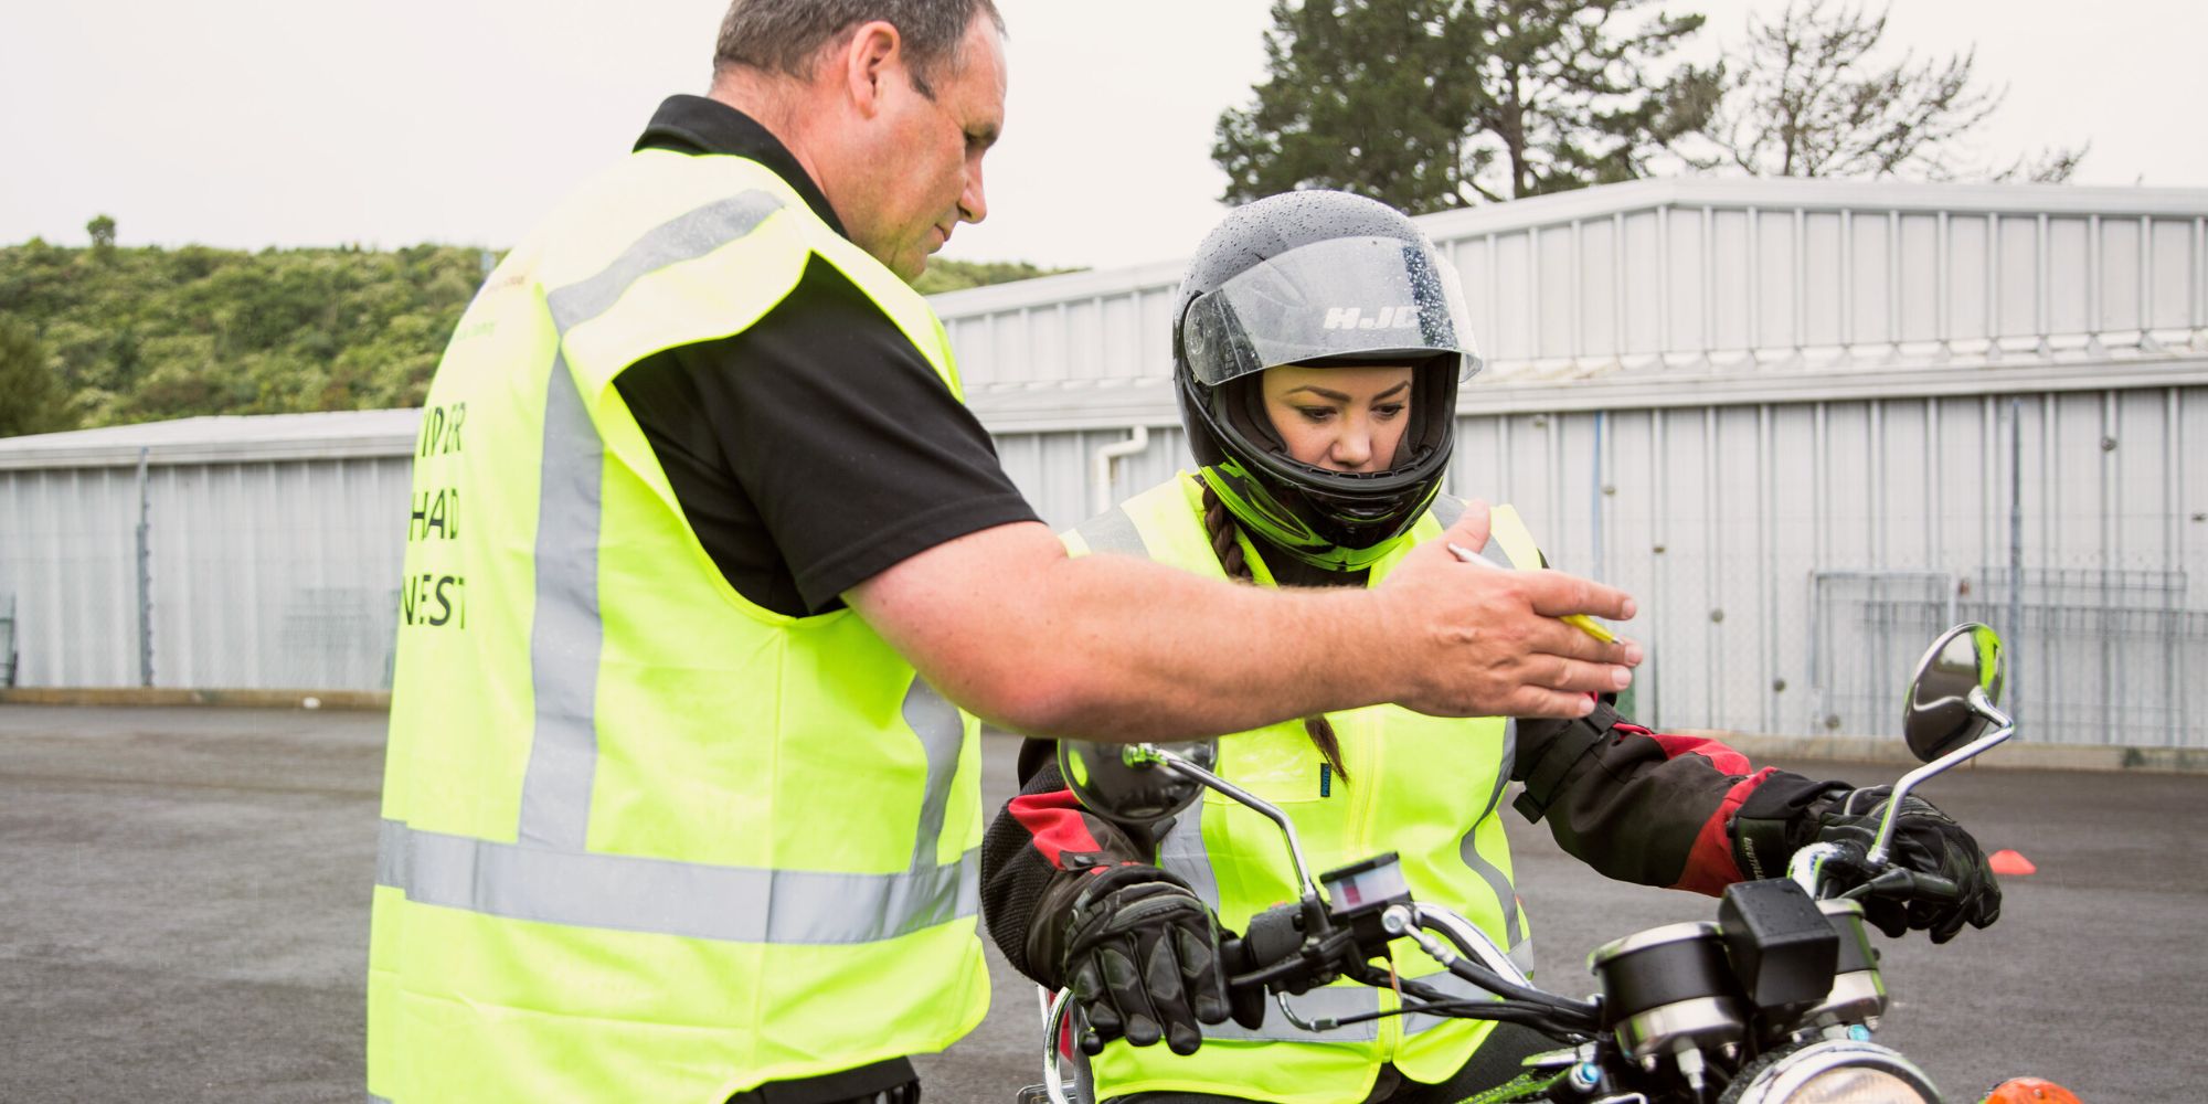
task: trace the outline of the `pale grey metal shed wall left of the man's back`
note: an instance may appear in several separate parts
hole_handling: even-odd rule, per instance
[[[380,689],[406,457],[146,473],[155,687]],[[24,687],[144,684],[135,468],[0,473],[0,594]]]

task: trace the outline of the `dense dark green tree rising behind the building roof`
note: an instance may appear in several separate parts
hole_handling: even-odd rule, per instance
[[[1700,15],[1649,0],[1274,0],[1267,79],[1219,117],[1228,201],[1340,188],[1413,214],[1643,177],[1720,73],[1656,68]]]

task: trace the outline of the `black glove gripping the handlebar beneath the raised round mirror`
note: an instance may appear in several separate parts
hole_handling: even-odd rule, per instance
[[[1892,786],[1872,786],[1835,795],[1813,804],[1808,815],[1817,828],[1817,841],[1855,843],[1857,854],[1868,852],[1886,819],[1886,799]],[[1864,919],[1899,938],[1910,927],[1932,932],[1932,943],[1947,943],[1967,921],[1985,927],[2000,919],[2000,881],[1985,863],[1978,841],[1963,830],[1954,817],[1932,808],[1921,797],[1903,797],[1894,817],[1894,837],[1888,843],[1894,866],[1936,874],[1954,883],[1952,899],[1912,896],[1897,901],[1890,896],[1864,896]]]

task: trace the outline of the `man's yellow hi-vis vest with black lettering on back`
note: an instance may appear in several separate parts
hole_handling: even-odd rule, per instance
[[[850,609],[735,594],[614,389],[810,258],[958,393],[927,302],[737,157],[631,155],[461,318],[413,468],[371,1097],[720,1104],[987,1011],[978,724]]]

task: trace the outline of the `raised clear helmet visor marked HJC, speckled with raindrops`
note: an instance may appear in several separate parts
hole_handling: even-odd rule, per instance
[[[1424,243],[1387,236],[1329,238],[1261,261],[1188,305],[1181,347],[1206,386],[1323,358],[1455,353],[1457,380],[1479,371],[1455,269]]]

